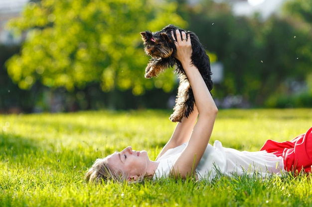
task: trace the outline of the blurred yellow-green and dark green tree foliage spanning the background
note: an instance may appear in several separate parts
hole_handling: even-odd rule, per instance
[[[106,105],[133,108],[134,104],[124,107],[130,103],[122,98],[124,93],[137,96],[155,89],[175,93],[177,82],[171,69],[158,78],[144,78],[149,58],[139,34],[173,23],[195,32],[210,51],[211,62],[223,64],[223,82],[214,84],[212,91],[215,98],[241,95],[250,106],[259,107],[281,106],[284,97],[292,96],[292,106],[311,107],[309,100],[293,94],[289,84],[304,83],[311,94],[311,7],[311,1],[287,0],[281,14],[263,20],[258,14],[234,16],[230,4],[213,0],[196,4],[186,0],[31,1],[21,17],[8,24],[28,35],[20,52],[6,62],[7,73],[22,89],[64,87],[67,97],[80,92],[86,98],[104,97],[98,89],[90,89],[98,87],[107,93]],[[278,95],[281,104],[274,100]],[[89,108],[97,105],[91,99],[87,102]],[[137,108],[142,105],[148,104]]]

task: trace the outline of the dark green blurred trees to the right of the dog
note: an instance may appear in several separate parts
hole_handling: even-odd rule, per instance
[[[257,14],[234,16],[229,4],[212,0],[190,5],[188,10],[189,29],[224,65],[224,81],[214,86],[215,97],[242,95],[263,106],[268,97],[288,92],[287,80],[303,80],[309,73],[311,37],[289,18],[271,16],[263,21]]]

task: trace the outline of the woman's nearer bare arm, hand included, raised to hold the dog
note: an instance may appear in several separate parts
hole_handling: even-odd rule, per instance
[[[174,177],[181,176],[182,178],[186,178],[187,176],[195,175],[195,169],[212,134],[218,108],[216,107],[200,72],[192,64],[190,36],[188,35],[187,40],[185,41],[184,39],[186,38],[186,34],[184,32],[182,32],[182,34],[180,34],[179,30],[176,30],[175,32],[175,46],[177,48],[176,59],[181,62],[188,81],[190,82],[199,114],[198,120],[193,128],[185,149],[182,151],[181,155],[178,157],[171,169],[171,174]],[[172,37],[174,39],[173,33]]]

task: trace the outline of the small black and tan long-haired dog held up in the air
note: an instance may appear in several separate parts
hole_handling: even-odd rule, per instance
[[[175,72],[179,75],[178,92],[175,99],[175,106],[173,113],[170,116],[172,122],[181,122],[183,117],[188,117],[194,110],[194,95],[192,88],[188,82],[184,69],[181,63],[174,58],[176,53],[176,47],[174,40],[171,36],[173,31],[176,39],[175,30],[184,31],[186,34],[190,34],[192,44],[192,64],[197,67],[202,75],[209,91],[212,89],[210,60],[205,52],[204,47],[199,42],[198,37],[191,31],[182,30],[172,24],[164,27],[158,32],[141,32],[142,40],[144,41],[144,49],[148,56],[151,56],[151,60],[145,69],[145,77],[151,78],[157,76],[161,71],[175,66]]]

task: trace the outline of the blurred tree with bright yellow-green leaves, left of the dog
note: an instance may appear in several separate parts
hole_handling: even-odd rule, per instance
[[[176,85],[171,70],[144,78],[148,57],[140,32],[169,23],[186,26],[168,0],[42,0],[30,1],[22,16],[9,22],[27,31],[21,52],[7,61],[9,76],[22,89],[36,82],[73,91],[98,83],[105,92],[145,89],[168,92]]]

